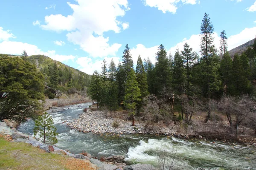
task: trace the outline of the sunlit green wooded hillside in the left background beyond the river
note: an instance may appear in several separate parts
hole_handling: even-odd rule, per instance
[[[19,57],[10,54],[8,56]],[[35,64],[41,73],[44,74],[45,95],[47,98],[87,96],[90,75],[44,55],[29,56],[28,61]]]

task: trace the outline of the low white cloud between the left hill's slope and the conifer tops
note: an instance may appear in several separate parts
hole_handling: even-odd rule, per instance
[[[111,59],[115,62],[116,66],[119,63],[120,58],[119,57],[105,57],[104,58],[107,61],[107,68],[109,66],[109,63]],[[101,73],[101,67],[102,67],[103,59],[96,59],[94,62],[90,57],[79,57],[76,60],[76,63],[79,64],[79,70],[83,71],[87,74],[93,74],[93,72],[96,70],[99,73]]]

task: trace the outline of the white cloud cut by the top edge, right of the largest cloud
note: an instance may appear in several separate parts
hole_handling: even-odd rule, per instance
[[[162,11],[163,13],[166,13],[166,11],[171,12],[173,14],[176,13],[177,10],[177,3],[179,3],[180,0],[143,0],[143,3],[145,6],[155,7],[158,8],[158,10]],[[195,5],[196,3],[199,3],[198,0],[181,0],[183,4],[192,4]]]

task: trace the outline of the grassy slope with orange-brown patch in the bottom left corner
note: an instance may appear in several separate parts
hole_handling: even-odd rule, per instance
[[[0,137],[0,170],[96,170],[87,160],[46,153],[23,142]]]

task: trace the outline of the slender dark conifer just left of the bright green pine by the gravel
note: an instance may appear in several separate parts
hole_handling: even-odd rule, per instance
[[[118,103],[121,105],[121,102],[124,100],[125,96],[125,70],[120,62],[116,68],[115,79],[118,89]]]

